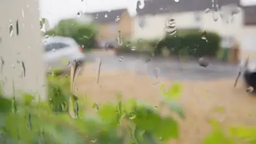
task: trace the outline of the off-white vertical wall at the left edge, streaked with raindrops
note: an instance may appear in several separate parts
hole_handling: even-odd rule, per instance
[[[13,21],[11,37],[9,34],[10,20]],[[19,21],[19,35],[16,34],[16,21]],[[0,37],[2,39],[0,56],[4,61],[3,71],[0,71],[0,80],[4,93],[13,94],[14,82],[16,92],[20,90],[37,93],[42,99],[46,99],[38,2],[35,0],[0,1]],[[26,75],[23,74],[22,61],[25,64]],[[0,61],[0,69],[1,65]]]

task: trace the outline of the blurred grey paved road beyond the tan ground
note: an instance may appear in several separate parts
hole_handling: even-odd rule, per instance
[[[138,74],[164,77],[171,80],[209,80],[220,77],[235,77],[236,65],[211,62],[207,68],[200,67],[197,61],[179,62],[177,59],[152,58],[148,63],[146,56],[114,56],[89,54],[89,61],[101,58],[102,71],[117,69],[132,70]]]

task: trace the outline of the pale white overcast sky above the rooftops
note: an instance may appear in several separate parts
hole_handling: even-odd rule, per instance
[[[134,15],[136,2],[137,0],[39,0],[39,8],[40,17],[48,19],[50,27],[53,27],[61,19],[75,17],[78,11],[94,12],[127,8],[130,14]],[[256,5],[256,0],[240,0],[240,2],[242,5]]]

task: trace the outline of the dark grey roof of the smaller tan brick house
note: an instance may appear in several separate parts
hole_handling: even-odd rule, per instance
[[[94,17],[95,21],[98,23],[109,23],[115,22],[117,17],[121,17],[121,15],[126,11],[126,9],[118,9],[111,11],[100,11],[96,13],[84,13],[85,15],[91,15]]]

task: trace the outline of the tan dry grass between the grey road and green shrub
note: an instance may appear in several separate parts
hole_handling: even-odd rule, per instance
[[[159,89],[164,83],[172,85],[174,81],[156,80],[152,77],[138,76],[133,73],[117,71],[100,75],[96,85],[97,73],[85,68],[85,72],[77,78],[75,85],[80,94],[88,94],[92,100],[104,103],[115,99],[115,94],[121,92],[123,98],[136,98],[152,105],[158,105]],[[154,83],[159,82],[158,85]],[[242,88],[241,81],[234,88],[234,79],[219,79],[212,81],[181,81],[183,93],[179,103],[184,107],[187,118],[179,120],[181,124],[181,139],[174,143],[198,144],[210,131],[208,120],[219,119],[223,125],[256,124],[256,98],[248,95]],[[223,112],[214,109],[224,108]]]

